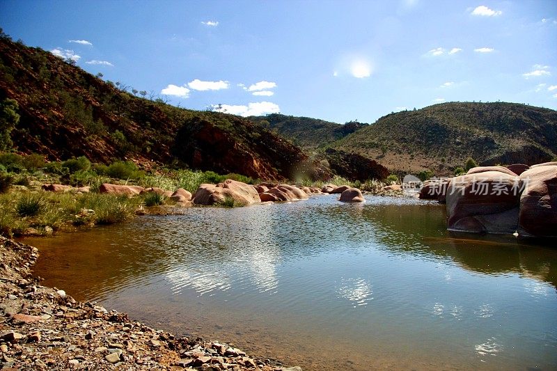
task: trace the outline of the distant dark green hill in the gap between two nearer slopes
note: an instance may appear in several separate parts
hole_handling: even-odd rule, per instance
[[[366,123],[350,121],[344,125],[317,118],[286,116],[272,113],[267,116],[251,116],[249,120],[273,130],[306,150],[323,148],[326,145],[356,132]]]

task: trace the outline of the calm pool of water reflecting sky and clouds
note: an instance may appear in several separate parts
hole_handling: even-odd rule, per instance
[[[557,249],[450,235],[444,206],[317,196],[26,239],[36,274],[304,370],[557,367]]]

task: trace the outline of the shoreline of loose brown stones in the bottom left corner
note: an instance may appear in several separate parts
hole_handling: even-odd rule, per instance
[[[75,301],[40,285],[37,258],[37,248],[0,236],[0,370],[301,371]]]

